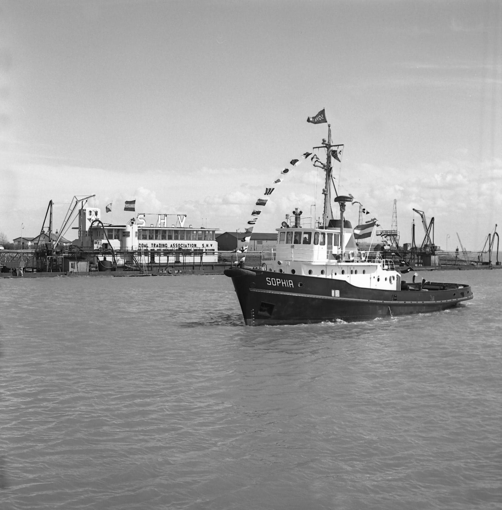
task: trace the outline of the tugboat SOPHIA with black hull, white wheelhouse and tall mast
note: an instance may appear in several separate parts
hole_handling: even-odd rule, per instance
[[[246,325],[365,321],[445,310],[472,299],[468,285],[415,282],[415,278],[407,283],[392,260],[382,258],[380,252],[359,250],[344,218],[352,195],[339,196],[334,189],[340,219],[332,217],[331,158],[336,157],[336,147],[328,124],[327,141],[314,147],[326,150],[326,163],[321,163],[326,177],[322,224],[302,226],[302,212],[296,209],[294,224],[289,225],[286,216],[276,229],[273,260],[260,267],[246,266],[244,261],[241,267],[224,271],[232,278]]]

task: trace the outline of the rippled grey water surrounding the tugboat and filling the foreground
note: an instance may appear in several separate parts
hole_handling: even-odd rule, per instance
[[[225,276],[0,280],[0,506],[500,508],[502,271],[433,276],[474,300],[255,328]]]

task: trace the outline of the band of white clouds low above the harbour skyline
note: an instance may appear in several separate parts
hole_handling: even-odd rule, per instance
[[[256,172],[202,168],[178,175],[155,170],[128,174],[124,179],[118,171],[69,165],[0,167],[0,231],[10,238],[18,237],[23,222],[24,235],[38,234],[49,199],[56,203],[55,224],[59,227],[72,196],[92,193],[96,194],[93,205],[101,208],[107,222],[112,218],[114,223],[127,221],[132,213],[123,211],[123,202],[136,198],[137,212],[187,214],[187,223],[243,231],[256,199],[263,196],[279,172],[278,168]],[[435,217],[437,244],[447,233],[458,231],[472,249],[483,244],[485,233],[500,221],[502,213],[500,159],[479,164],[467,160],[438,162],[406,169],[369,164],[352,168],[347,164],[342,167],[341,184],[335,182],[339,193],[352,193],[379,219],[382,228],[391,226],[396,198],[404,242],[409,240],[413,217],[418,219],[412,208],[425,211],[429,219]],[[317,217],[321,216],[323,186],[322,172],[307,165],[295,168],[270,195],[255,230],[272,232],[296,207],[304,216],[313,215],[314,210]],[[104,206],[111,201],[113,213],[105,214]],[[356,223],[357,205],[348,208],[347,214]]]

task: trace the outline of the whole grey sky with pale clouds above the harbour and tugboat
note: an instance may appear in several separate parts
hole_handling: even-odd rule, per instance
[[[11,238],[21,222],[39,232],[49,199],[58,223],[64,202],[93,193],[105,221],[106,203],[124,221],[123,200],[136,198],[243,230],[281,167],[326,137],[306,122],[322,108],[346,144],[340,189],[386,228],[397,198],[402,241],[412,207],[435,216],[442,247],[458,231],[479,249],[501,219],[499,2],[0,5],[0,231]],[[306,162],[295,169],[257,230],[319,204],[318,179]]]

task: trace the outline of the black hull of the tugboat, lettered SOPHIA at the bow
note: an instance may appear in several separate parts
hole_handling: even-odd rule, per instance
[[[233,268],[225,274],[232,278],[249,326],[364,321],[438,312],[472,299],[470,287],[460,284],[428,283],[423,288],[389,291],[261,270]]]

